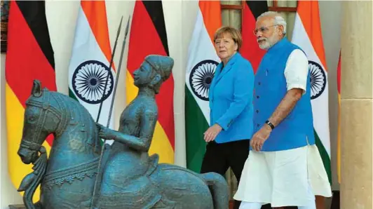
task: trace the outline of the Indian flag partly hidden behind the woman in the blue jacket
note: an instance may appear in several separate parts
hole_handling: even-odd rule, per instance
[[[210,123],[208,89],[220,62],[214,33],[222,27],[220,1],[199,1],[196,25],[189,43],[185,85],[186,167],[199,173]]]

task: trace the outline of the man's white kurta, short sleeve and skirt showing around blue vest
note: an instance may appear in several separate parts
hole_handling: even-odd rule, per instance
[[[301,50],[290,54],[284,74],[287,90],[301,88],[306,92],[308,60]],[[318,148],[308,145],[283,151],[251,151],[233,198],[281,207],[308,205],[315,195],[332,196],[332,189]]]

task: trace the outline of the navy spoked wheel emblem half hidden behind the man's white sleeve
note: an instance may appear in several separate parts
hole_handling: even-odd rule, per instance
[[[311,100],[313,100],[325,90],[327,78],[324,69],[317,62],[308,61],[308,68],[311,74]]]

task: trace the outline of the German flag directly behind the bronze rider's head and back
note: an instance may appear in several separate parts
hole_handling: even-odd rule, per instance
[[[130,29],[128,48],[126,99],[135,99],[138,88],[133,84],[133,72],[147,55],[170,55],[165,30],[162,1],[136,1]],[[161,163],[173,163],[175,154],[175,125],[173,112],[173,76],[165,81],[156,95],[158,121],[149,154],[158,154]]]

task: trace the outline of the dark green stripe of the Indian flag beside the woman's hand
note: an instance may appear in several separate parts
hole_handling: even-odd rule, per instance
[[[203,133],[208,129],[203,112],[198,106],[189,88],[185,86],[185,133],[186,133],[186,168],[200,173],[206,143]]]

